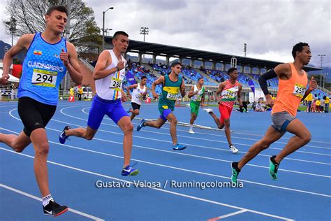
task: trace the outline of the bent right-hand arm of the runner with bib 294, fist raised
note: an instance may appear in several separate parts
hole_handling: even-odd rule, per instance
[[[64,52],[64,50],[62,49],[60,58],[63,60],[64,65],[66,66],[66,69],[71,76],[71,79],[73,79],[73,82],[76,83],[76,85],[81,85],[83,77],[82,71],[80,71],[80,64],[78,63],[78,55],[76,52],[76,48],[70,42],[66,43],[66,47],[68,50],[68,54],[66,55],[66,52]]]

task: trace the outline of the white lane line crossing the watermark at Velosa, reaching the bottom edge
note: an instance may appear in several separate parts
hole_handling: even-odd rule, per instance
[[[0,148],[0,149],[1,150],[6,150],[8,152],[13,152],[14,154],[17,154],[17,155],[22,155],[24,157],[29,157],[29,158],[34,159],[33,156],[25,155],[25,154],[22,154],[20,152],[15,152],[13,150],[7,150],[5,148]],[[49,160],[47,160],[47,163],[54,164],[54,165],[57,165],[57,166],[62,166],[62,167],[65,167],[67,169],[73,169],[75,171],[80,171],[80,172],[83,172],[83,173],[89,173],[89,174],[92,174],[92,175],[95,175],[95,176],[101,176],[103,178],[109,178],[109,179],[112,179],[112,180],[117,180],[117,181],[125,182],[125,183],[131,183],[131,185],[133,185],[133,182],[128,181],[128,180],[122,180],[122,179],[115,178],[115,177],[112,177],[112,176],[106,176],[106,175],[103,175],[103,174],[100,174],[100,173],[95,173],[95,172],[92,172],[92,171],[87,171],[87,170],[84,170],[84,169],[79,169],[77,167],[68,166],[66,164],[59,164],[57,162],[52,162],[52,161],[49,161]],[[270,213],[263,213],[263,212],[259,212],[259,211],[254,211],[254,210],[250,210],[250,209],[247,209],[247,208],[242,208],[242,207],[239,207],[239,206],[233,206],[233,205],[230,205],[230,204],[223,204],[223,203],[218,202],[218,201],[212,201],[212,200],[203,199],[203,198],[200,198],[200,197],[193,197],[191,195],[181,194],[179,192],[172,192],[170,190],[163,190],[163,189],[154,188],[154,187],[147,187],[147,188],[149,188],[151,190],[165,192],[165,193],[168,193],[168,194],[173,194],[173,195],[176,195],[176,196],[179,196],[179,197],[186,197],[186,198],[189,198],[189,199],[195,199],[195,200],[198,200],[198,201],[207,202],[207,203],[210,203],[210,204],[216,204],[216,205],[219,205],[219,206],[226,206],[226,207],[229,207],[229,208],[236,208],[238,210],[245,210],[245,211],[248,211],[248,212],[251,212],[251,213],[256,213],[256,214],[259,214],[259,215],[265,215],[265,216],[272,217],[272,218],[278,218],[278,219],[281,219],[281,220],[289,220],[288,218],[284,218],[284,217],[281,217],[281,216],[278,216],[278,215],[272,215]]]

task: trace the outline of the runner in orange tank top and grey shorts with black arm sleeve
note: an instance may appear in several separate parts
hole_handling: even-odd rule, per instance
[[[295,118],[300,101],[317,87],[316,80],[311,77],[307,88],[307,73],[303,70],[304,65],[309,64],[311,51],[307,43],[297,43],[292,50],[294,62],[289,64],[279,64],[273,70],[267,71],[258,79],[261,89],[267,99],[267,104],[272,108],[272,125],[267,129],[265,136],[254,143],[240,162],[233,162],[231,182],[237,183],[237,177],[242,167],[259,152],[269,148],[275,141],[279,140],[286,131],[294,134],[278,155],[270,157],[269,173],[273,180],[277,180],[277,170],[279,163],[284,157],[295,152],[302,146],[309,143],[311,134],[302,122]],[[279,87],[276,100],[272,100],[267,90],[267,80],[279,78]]]

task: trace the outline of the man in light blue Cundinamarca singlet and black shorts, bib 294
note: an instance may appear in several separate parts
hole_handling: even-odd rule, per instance
[[[17,94],[17,110],[24,129],[18,136],[0,134],[0,142],[6,143],[16,152],[22,152],[30,143],[34,145],[34,172],[43,197],[43,211],[45,215],[54,216],[68,211],[68,207],[57,204],[50,194],[47,178],[50,145],[45,127],[57,108],[59,85],[66,71],[77,85],[82,83],[75,46],[61,37],[67,17],[65,6],[50,7],[45,15],[45,31],[24,34],[16,45],[8,50],[3,58],[1,78],[1,83],[6,85],[13,57],[27,49]]]

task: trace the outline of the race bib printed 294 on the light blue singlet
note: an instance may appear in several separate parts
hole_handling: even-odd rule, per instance
[[[43,87],[55,87],[57,84],[57,72],[34,69],[31,83]]]

